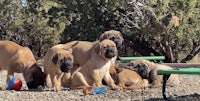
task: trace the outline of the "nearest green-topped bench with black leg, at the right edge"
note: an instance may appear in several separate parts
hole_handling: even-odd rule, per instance
[[[184,67],[184,68],[174,68],[172,70],[157,70],[157,74],[163,75],[162,95],[165,100],[168,100],[165,94],[165,90],[166,90],[166,82],[170,77],[170,75],[171,74],[200,75],[200,67]]]

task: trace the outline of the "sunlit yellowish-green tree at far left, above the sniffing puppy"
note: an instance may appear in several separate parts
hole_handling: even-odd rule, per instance
[[[28,46],[36,57],[44,56],[51,46],[60,42],[65,23],[48,15],[48,11],[59,4],[51,1],[4,0],[0,2],[0,38]],[[52,24],[56,22],[55,24]]]

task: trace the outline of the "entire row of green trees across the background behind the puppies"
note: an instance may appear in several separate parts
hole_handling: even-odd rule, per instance
[[[187,62],[200,51],[198,0],[21,2],[0,1],[0,39],[28,46],[37,57],[58,43],[94,41],[109,29],[123,33],[133,56],[164,55],[165,62]],[[127,56],[126,51],[120,56]]]

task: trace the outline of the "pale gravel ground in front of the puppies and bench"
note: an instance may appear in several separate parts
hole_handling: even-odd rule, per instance
[[[181,84],[167,87],[169,100],[200,101],[200,75],[181,75]],[[23,86],[24,87],[24,86]],[[2,90],[0,101],[163,101],[162,87],[143,90],[108,90],[103,94],[84,95],[82,89],[54,92],[45,89]]]

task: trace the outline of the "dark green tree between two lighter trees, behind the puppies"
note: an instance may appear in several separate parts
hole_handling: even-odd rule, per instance
[[[63,32],[62,42],[70,40],[96,40],[109,29],[121,29],[117,13],[124,9],[123,0],[67,0],[62,4],[74,15]]]

